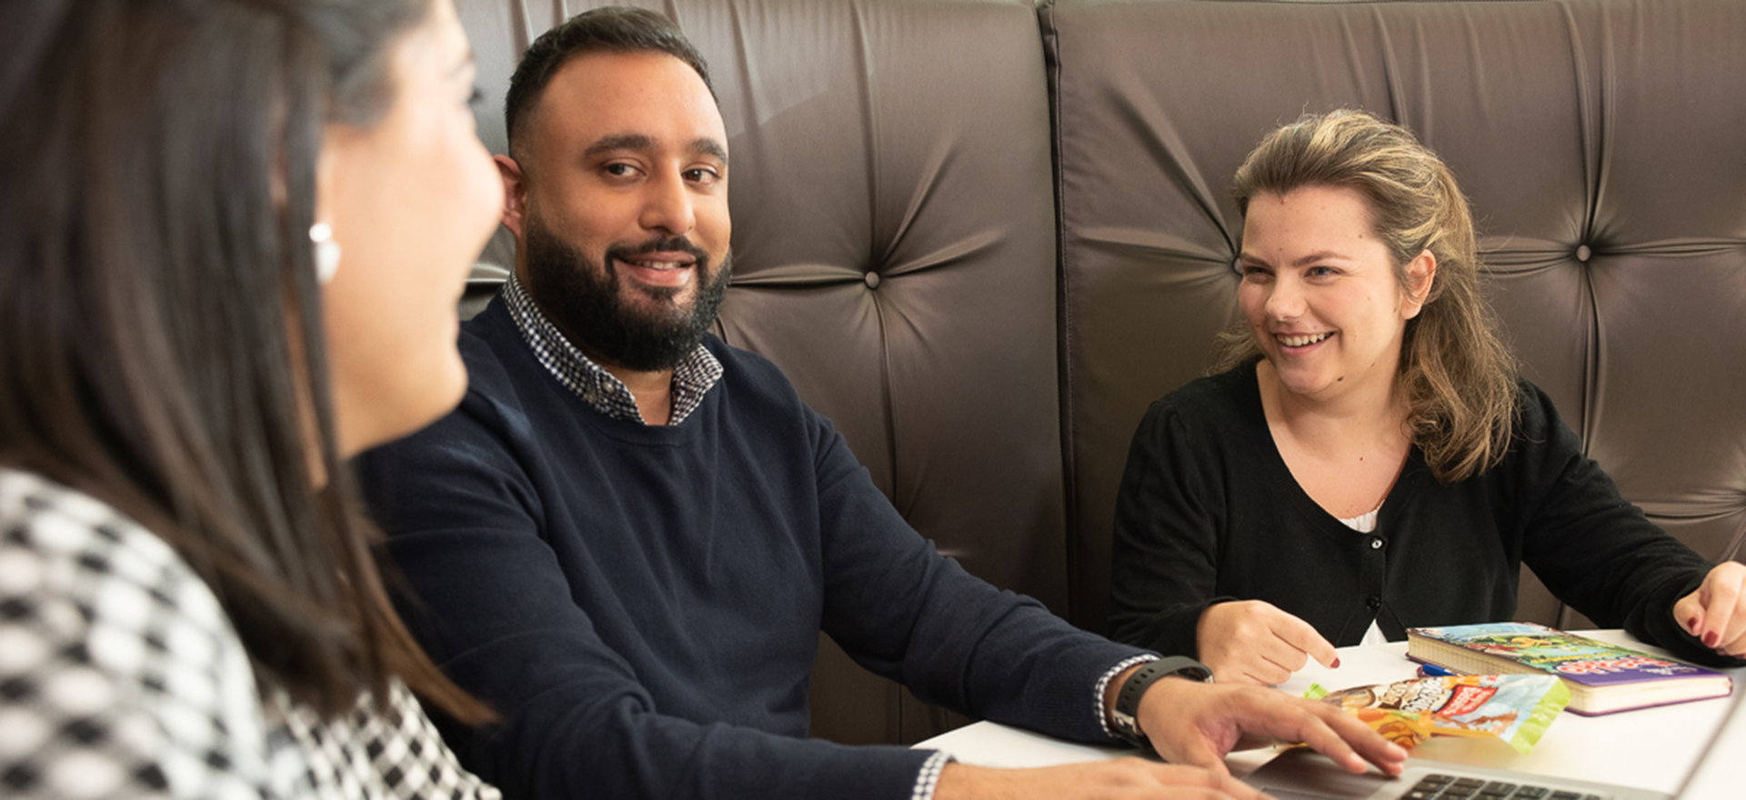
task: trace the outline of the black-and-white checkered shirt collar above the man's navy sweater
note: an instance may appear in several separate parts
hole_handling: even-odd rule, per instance
[[[533,297],[522,281],[510,276],[503,292],[498,293],[508,304],[510,318],[522,332],[522,339],[533,348],[534,358],[557,377],[560,384],[574,391],[588,407],[625,423],[643,423],[637,410],[637,398],[623,381],[613,377],[604,367],[581,355],[569,339],[564,337],[552,320],[546,320],[534,306]],[[704,405],[704,395],[721,381],[721,362],[707,348],[698,344],[672,370],[672,416],[667,424],[679,424]]]

